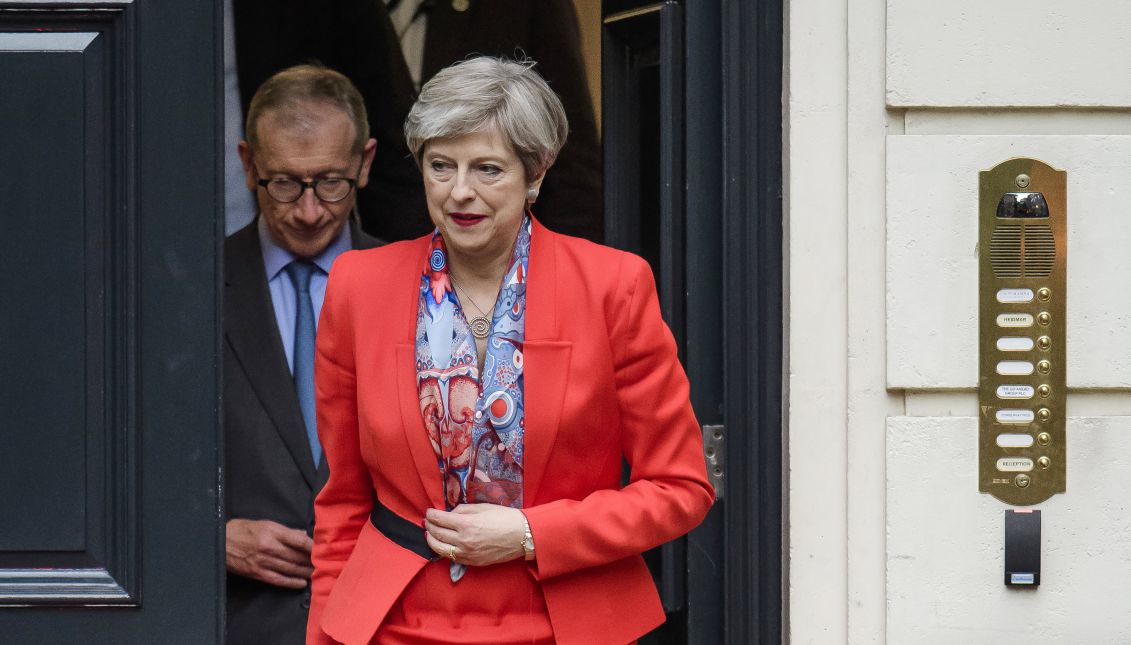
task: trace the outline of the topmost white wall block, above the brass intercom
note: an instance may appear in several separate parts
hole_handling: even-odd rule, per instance
[[[888,103],[1131,106],[1124,5],[888,0]]]

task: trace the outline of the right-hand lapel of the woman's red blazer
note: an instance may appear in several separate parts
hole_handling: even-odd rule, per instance
[[[558,265],[554,233],[534,223],[530,235],[530,276],[526,291],[526,343],[523,346],[525,463],[523,498],[534,504],[561,420],[569,375],[571,343],[560,341],[558,327]]]

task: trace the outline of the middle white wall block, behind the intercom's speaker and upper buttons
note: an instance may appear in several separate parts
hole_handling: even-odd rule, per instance
[[[888,387],[977,387],[978,171],[1017,156],[1069,171],[1068,385],[1131,387],[1125,135],[888,137]]]

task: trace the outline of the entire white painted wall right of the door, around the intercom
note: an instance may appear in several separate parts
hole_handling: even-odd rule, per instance
[[[1131,643],[1131,5],[787,0],[785,29],[789,640]],[[1028,592],[974,392],[977,171],[1018,155],[1070,217],[1068,492]]]

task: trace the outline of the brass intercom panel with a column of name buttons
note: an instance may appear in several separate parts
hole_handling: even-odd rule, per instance
[[[978,490],[1064,492],[1068,173],[1012,158],[979,173]]]

